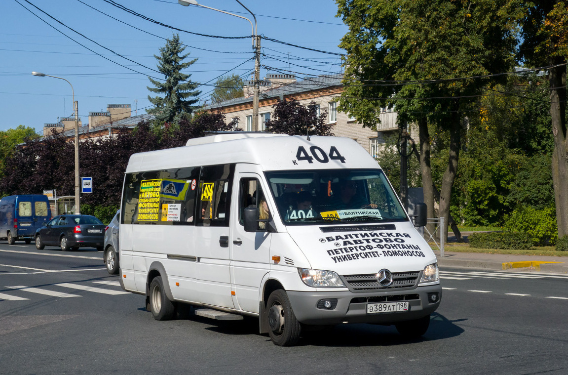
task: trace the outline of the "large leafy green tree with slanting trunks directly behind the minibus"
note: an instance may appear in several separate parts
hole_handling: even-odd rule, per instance
[[[467,115],[475,96],[509,71],[517,44],[517,0],[336,0],[349,26],[340,47],[345,89],[340,109],[364,126],[380,122],[378,107],[395,107],[400,123],[420,129],[425,201],[433,214],[428,124],[448,134],[440,216],[448,222]]]

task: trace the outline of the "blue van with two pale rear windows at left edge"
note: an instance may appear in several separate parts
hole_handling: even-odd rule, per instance
[[[16,240],[30,244],[37,228],[51,220],[46,195],[10,195],[0,200],[0,238],[14,245]]]

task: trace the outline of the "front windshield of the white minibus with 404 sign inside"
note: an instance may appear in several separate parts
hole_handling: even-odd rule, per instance
[[[408,220],[380,169],[265,174],[286,225]]]

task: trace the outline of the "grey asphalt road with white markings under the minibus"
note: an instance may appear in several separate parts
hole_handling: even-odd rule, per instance
[[[281,348],[256,319],[157,322],[94,249],[0,241],[0,374],[566,374],[568,276],[442,269],[423,339],[346,324]]]

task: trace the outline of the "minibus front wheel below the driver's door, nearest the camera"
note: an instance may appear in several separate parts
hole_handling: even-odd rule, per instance
[[[282,289],[273,291],[266,302],[268,334],[274,345],[289,347],[300,339],[302,326],[296,319],[288,295]]]

